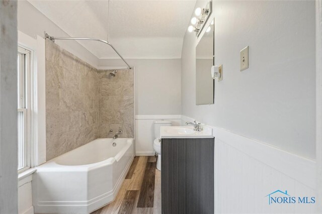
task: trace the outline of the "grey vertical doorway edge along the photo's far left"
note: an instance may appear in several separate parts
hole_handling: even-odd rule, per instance
[[[0,213],[18,211],[17,2],[0,2]]]

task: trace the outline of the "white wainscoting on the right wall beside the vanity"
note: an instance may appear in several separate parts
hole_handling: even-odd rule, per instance
[[[182,116],[182,124],[194,119]],[[318,213],[316,163],[269,144],[212,127],[215,137],[215,213]],[[295,203],[272,203],[266,196],[287,191]],[[287,196],[277,192],[273,197]],[[288,196],[287,196],[288,197]]]

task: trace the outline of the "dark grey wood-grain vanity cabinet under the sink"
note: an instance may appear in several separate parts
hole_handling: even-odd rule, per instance
[[[214,213],[214,138],[162,139],[163,214]]]

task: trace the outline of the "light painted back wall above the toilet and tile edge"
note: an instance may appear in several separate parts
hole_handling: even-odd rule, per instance
[[[181,114],[181,60],[127,59],[135,67],[135,114]],[[100,67],[125,66],[122,60],[101,59]]]

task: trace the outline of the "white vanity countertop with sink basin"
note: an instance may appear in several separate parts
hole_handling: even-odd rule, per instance
[[[213,138],[212,128],[203,126],[203,131],[193,130],[193,126],[163,126],[160,130],[161,138]]]

